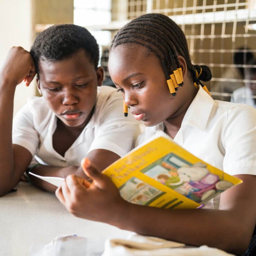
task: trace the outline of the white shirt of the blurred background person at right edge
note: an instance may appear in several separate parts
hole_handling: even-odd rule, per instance
[[[231,102],[242,103],[256,108],[255,100],[252,98],[252,91],[249,87],[241,87],[233,91]]]

